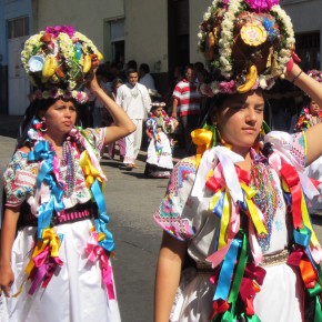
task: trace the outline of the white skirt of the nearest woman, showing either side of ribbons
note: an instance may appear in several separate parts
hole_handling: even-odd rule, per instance
[[[302,322],[302,285],[286,264],[264,268],[266,275],[255,295],[254,310],[261,322]],[[214,285],[211,273],[183,272],[170,316],[171,322],[210,322]]]

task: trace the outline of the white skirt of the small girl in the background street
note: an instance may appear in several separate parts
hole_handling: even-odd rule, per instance
[[[148,148],[147,163],[172,170],[173,162],[172,162],[172,149],[170,145],[170,140],[167,137],[167,134],[163,132],[159,132],[158,134],[160,137],[160,142],[158,142],[158,144],[160,145],[160,149],[162,152],[160,155],[158,155],[157,150],[155,150],[154,139],[152,139]]]

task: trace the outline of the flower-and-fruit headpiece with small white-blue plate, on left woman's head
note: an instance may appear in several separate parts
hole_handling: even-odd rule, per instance
[[[21,52],[30,82],[38,88],[33,98],[73,98],[80,103],[87,94],[77,89],[101,59],[93,42],[71,26],[47,27],[30,37]]]

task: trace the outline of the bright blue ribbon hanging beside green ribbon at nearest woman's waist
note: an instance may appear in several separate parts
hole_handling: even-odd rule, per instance
[[[217,301],[219,299],[225,301],[228,299],[233,269],[237,262],[238,250],[241,246],[241,240],[234,239],[230,245],[230,249],[220,270],[213,301]]]

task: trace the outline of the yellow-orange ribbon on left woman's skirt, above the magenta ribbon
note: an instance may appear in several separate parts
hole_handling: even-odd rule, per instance
[[[33,250],[31,260],[26,268],[26,272],[28,274],[31,273],[32,269],[34,268],[33,259],[38,256],[40,253],[44,251],[44,249],[49,245],[50,255],[52,258],[58,258],[59,255],[59,248],[60,248],[60,239],[57,233],[53,231],[52,228],[47,228],[42,232],[42,239],[37,242],[37,245]]]

